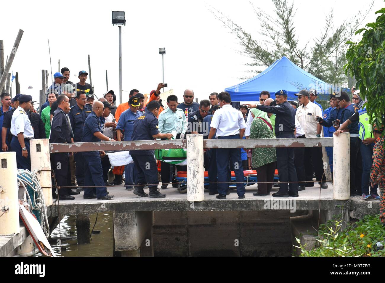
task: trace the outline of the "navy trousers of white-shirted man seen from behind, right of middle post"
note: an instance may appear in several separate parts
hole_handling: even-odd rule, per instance
[[[239,139],[239,135],[218,137],[218,139]],[[216,149],[218,182],[228,182],[229,161],[230,164],[234,164],[235,180],[237,182],[237,194],[238,196],[243,196],[246,192],[246,189],[244,188],[244,175],[240,148]],[[228,183],[218,183],[218,193],[226,194],[228,187]]]

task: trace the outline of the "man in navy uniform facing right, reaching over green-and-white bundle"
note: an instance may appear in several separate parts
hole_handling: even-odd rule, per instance
[[[132,141],[149,141],[153,139],[162,139],[166,137],[171,139],[172,134],[161,134],[158,131],[159,108],[158,101],[152,100],[147,104],[146,112],[134,121],[132,131]],[[119,120],[120,121],[120,120]],[[159,193],[158,189],[158,168],[154,157],[154,150],[131,150],[132,160],[134,161],[134,194],[141,197],[164,198],[166,194]],[[150,192],[144,193],[143,186],[148,184]]]

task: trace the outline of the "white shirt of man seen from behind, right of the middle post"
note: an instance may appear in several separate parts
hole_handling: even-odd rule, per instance
[[[217,129],[215,137],[238,135],[240,129],[246,128],[241,111],[230,104],[225,104],[215,111],[210,127]]]

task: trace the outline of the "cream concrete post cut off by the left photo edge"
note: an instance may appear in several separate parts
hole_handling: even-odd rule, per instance
[[[0,235],[20,233],[16,152],[0,152],[0,215]]]

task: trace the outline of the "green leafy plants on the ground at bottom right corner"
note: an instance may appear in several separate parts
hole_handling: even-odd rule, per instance
[[[341,230],[342,221],[328,221],[320,225],[318,244],[313,250],[307,251],[306,244],[301,245],[300,256],[385,256],[385,249],[377,250],[376,243],[384,243],[385,229],[378,215],[365,215],[360,221],[348,225]]]

